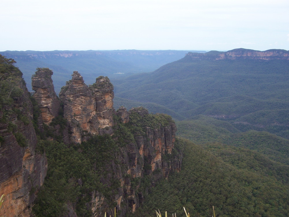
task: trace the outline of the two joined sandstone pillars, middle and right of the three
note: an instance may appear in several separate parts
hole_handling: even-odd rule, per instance
[[[81,143],[90,135],[112,134],[114,93],[108,77],[101,76],[88,87],[82,76],[74,71],[59,96],[72,141]]]

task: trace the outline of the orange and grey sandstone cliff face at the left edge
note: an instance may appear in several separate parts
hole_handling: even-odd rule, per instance
[[[17,85],[22,93],[0,109],[0,195],[5,194],[0,216],[30,216],[29,205],[47,172],[45,155],[35,152],[30,93],[22,81]]]

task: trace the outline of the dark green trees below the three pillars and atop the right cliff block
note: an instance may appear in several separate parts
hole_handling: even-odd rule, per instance
[[[147,111],[138,108],[138,111],[141,110]],[[130,120],[122,124],[119,117],[114,116],[113,136],[92,136],[81,144],[65,145],[55,134],[54,127],[58,125],[61,129],[66,126],[66,121],[61,116],[53,119],[45,131],[46,136],[54,137],[55,141],[40,140],[37,147],[39,152],[46,153],[49,167],[33,206],[34,215],[62,216],[68,210],[67,204],[72,204],[78,216],[92,216],[89,203],[96,192],[105,197],[105,204],[109,207],[115,206],[113,195],[118,194],[121,187],[116,175],[121,172],[123,177],[129,176],[127,168],[121,164],[123,149],[127,148],[127,144],[135,143],[134,136],[138,133],[145,135],[146,126],[159,128],[172,122],[168,115],[141,116],[137,111],[132,112]],[[172,157],[179,155],[180,148],[176,147]],[[144,164],[144,170],[151,169],[146,160]],[[145,192],[151,185],[151,179],[147,175],[142,180],[131,177],[131,187],[140,186],[138,191]]]

